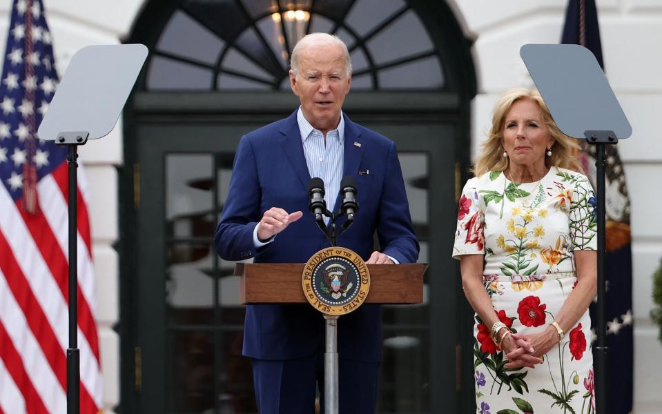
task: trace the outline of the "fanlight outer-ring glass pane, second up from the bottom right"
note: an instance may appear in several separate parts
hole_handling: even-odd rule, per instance
[[[434,49],[425,26],[412,10],[376,34],[367,42],[367,47],[376,64]],[[416,72],[411,72],[409,77],[413,77],[413,73]]]

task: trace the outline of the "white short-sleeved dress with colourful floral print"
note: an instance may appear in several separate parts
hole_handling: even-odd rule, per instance
[[[517,184],[493,171],[467,181],[453,257],[485,255],[483,281],[514,333],[544,331],[577,283],[574,250],[596,249],[596,199],[585,175],[550,168]],[[475,315],[474,377],[480,414],[595,413],[588,311],[536,368],[505,368],[505,353]]]

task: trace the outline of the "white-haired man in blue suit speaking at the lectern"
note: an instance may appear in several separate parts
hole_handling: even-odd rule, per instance
[[[360,210],[338,246],[367,263],[416,262],[418,242],[396,146],[341,111],[351,86],[347,46],[329,34],[309,34],[292,52],[289,75],[301,106],[242,137],[215,235],[219,255],[306,262],[330,245],[313,215],[302,213],[311,177],[323,179],[327,206],[338,211],[340,179],[351,175]],[[373,251],[375,232],[381,251]],[[380,306],[364,305],[339,319],[338,353],[340,413],[374,413],[382,358]],[[321,313],[307,304],[246,306],[243,354],[253,364],[260,413],[314,412],[315,384],[321,395],[324,391]]]

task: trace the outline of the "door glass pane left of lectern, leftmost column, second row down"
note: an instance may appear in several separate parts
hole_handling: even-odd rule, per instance
[[[211,243],[175,243],[168,246],[168,324],[213,322],[215,255]]]

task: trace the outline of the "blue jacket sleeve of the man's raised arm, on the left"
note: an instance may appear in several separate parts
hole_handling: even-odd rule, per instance
[[[261,218],[261,198],[255,153],[244,136],[237,148],[228,197],[214,235],[214,245],[222,259],[237,261],[255,256],[253,230]]]

